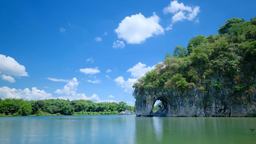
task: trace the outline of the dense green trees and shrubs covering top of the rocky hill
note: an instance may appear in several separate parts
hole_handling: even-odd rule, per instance
[[[249,101],[256,92],[256,17],[229,19],[218,33],[193,37],[187,48],[175,47],[173,55],[167,53],[133,87],[202,92],[228,88],[232,96]]]

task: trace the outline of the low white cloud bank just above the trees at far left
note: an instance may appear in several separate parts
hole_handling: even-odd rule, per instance
[[[45,92],[44,90],[39,90],[36,87],[33,87],[30,91],[30,89],[25,88],[22,89],[15,89],[15,88],[9,88],[7,86],[3,86],[0,88],[0,96],[1,98],[22,98],[25,100],[39,100],[39,99],[51,99],[52,94]]]

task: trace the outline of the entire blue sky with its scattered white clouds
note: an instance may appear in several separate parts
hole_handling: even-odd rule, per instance
[[[255,5],[253,0],[0,1],[0,97],[134,105],[132,82],[167,52],[186,47],[194,36],[217,34],[229,18],[250,20]]]

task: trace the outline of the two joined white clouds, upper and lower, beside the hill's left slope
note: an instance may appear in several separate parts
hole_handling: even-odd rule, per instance
[[[128,78],[128,80],[124,80],[124,77],[118,76],[116,79],[114,79],[116,85],[121,86],[121,88],[124,88],[125,92],[132,93],[133,88],[132,85],[137,81],[138,78],[145,75],[146,72],[153,70],[154,66],[152,67],[146,67],[146,64],[143,64],[141,62],[138,62],[138,64],[135,64],[132,68],[129,68],[127,72],[131,73],[132,78]]]

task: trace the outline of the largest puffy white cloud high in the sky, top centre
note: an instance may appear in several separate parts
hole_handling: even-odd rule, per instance
[[[138,13],[125,17],[115,32],[119,39],[124,39],[129,44],[140,44],[149,37],[164,34],[159,21],[160,18],[155,13],[148,18]]]

